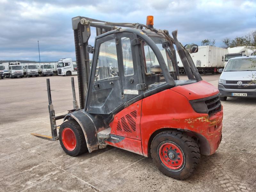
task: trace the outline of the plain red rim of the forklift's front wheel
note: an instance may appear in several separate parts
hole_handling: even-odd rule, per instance
[[[66,149],[73,151],[76,148],[76,135],[72,129],[66,127],[61,133],[62,143]]]

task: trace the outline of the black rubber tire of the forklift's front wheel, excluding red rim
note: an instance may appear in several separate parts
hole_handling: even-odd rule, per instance
[[[62,132],[65,128],[70,128],[76,136],[76,148],[72,151],[68,150],[63,144]],[[84,132],[80,125],[75,120],[68,120],[60,125],[59,140],[62,149],[70,156],[78,156],[85,153],[87,149]]]

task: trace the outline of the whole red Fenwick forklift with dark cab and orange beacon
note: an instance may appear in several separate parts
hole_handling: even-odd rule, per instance
[[[72,78],[74,109],[55,116],[47,80],[52,136],[70,156],[111,145],[151,156],[165,175],[183,180],[212,155],[221,141],[223,109],[219,91],[202,80],[177,30],[147,24],[72,18],[80,108]],[[91,27],[94,46],[88,45]],[[176,50],[188,80],[179,80]],[[92,53],[90,65],[89,53]],[[56,120],[64,119],[57,134]]]

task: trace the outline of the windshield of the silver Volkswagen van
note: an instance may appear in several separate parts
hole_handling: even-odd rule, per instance
[[[256,71],[256,58],[229,60],[224,71]]]

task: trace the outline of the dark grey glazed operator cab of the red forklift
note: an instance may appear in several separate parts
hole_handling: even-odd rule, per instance
[[[126,102],[142,99],[146,92],[153,94],[150,90],[166,85],[166,78],[172,79],[169,87],[178,80],[178,67],[164,35],[149,29],[141,29],[140,35],[144,38],[135,35],[135,30],[120,29],[95,38],[98,49],[93,52],[88,113],[110,114]]]

